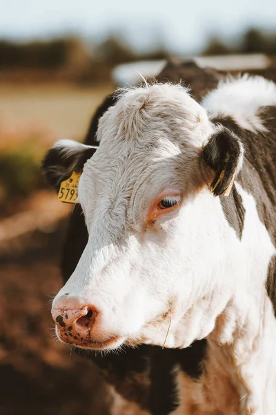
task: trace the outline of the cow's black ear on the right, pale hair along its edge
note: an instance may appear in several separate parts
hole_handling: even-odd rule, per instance
[[[210,191],[228,196],[235,175],[242,165],[242,142],[226,127],[219,126],[204,146],[202,157],[212,177]]]

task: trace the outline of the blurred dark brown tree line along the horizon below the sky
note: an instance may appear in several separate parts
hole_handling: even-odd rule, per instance
[[[185,45],[184,45],[185,50]],[[236,44],[211,37],[201,55],[230,53],[266,53],[276,55],[276,33],[250,28]],[[123,37],[110,35],[97,46],[85,45],[77,37],[36,41],[27,44],[0,40],[0,80],[23,73],[22,76],[79,82],[105,82],[117,64],[141,59],[167,59],[170,50],[158,47],[150,53],[137,53]],[[2,73],[2,77],[1,77]],[[42,77],[43,77],[42,76]],[[20,79],[20,76],[19,76]]]

